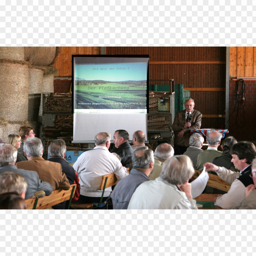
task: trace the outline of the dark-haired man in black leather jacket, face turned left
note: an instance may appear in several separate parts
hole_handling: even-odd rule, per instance
[[[114,133],[114,143],[116,148],[112,149],[110,153],[116,153],[121,157],[121,163],[126,168],[132,159],[133,149],[129,143],[129,133],[125,130],[116,130]]]

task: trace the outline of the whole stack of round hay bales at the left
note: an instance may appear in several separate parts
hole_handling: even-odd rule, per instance
[[[40,137],[41,95],[53,92],[58,47],[0,47],[0,137],[31,125]]]

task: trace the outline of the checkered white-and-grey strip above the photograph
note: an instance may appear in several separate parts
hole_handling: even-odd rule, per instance
[[[252,0],[209,2],[2,0],[0,46],[256,43]]]

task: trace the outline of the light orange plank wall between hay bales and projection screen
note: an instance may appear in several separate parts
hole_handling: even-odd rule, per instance
[[[59,55],[52,66],[59,69],[58,76],[72,76],[72,54],[101,54],[101,47],[59,47]]]

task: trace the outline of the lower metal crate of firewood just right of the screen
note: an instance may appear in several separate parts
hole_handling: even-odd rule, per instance
[[[148,114],[148,131],[171,131],[172,114]]]

